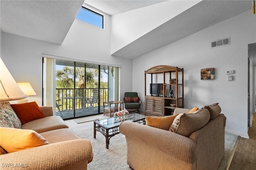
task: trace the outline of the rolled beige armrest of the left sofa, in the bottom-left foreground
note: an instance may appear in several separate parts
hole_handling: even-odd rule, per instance
[[[91,142],[88,139],[74,139],[1,155],[1,167],[13,169],[18,164],[23,167],[15,169],[87,169],[92,158]]]

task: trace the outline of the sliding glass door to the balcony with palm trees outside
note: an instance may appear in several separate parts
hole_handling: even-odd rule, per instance
[[[54,61],[56,115],[62,119],[103,113],[103,102],[118,100],[119,68],[59,59]]]

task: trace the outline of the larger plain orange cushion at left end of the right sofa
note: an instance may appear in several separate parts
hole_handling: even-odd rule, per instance
[[[168,131],[177,115],[178,114],[164,117],[146,116],[146,125]]]

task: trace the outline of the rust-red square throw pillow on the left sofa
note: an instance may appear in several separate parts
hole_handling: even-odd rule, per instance
[[[32,120],[45,117],[36,102],[11,104],[11,106],[14,109],[16,115],[19,117],[22,125]]]

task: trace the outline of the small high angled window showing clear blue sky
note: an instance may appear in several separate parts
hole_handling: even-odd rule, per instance
[[[84,7],[78,12],[76,19],[103,28],[103,16]]]

